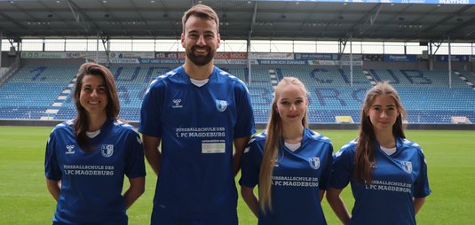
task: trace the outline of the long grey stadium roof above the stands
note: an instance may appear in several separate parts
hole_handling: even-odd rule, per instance
[[[356,1],[368,0],[0,0],[0,31],[9,39],[176,39],[183,12],[207,4],[225,40],[475,41],[474,0]]]

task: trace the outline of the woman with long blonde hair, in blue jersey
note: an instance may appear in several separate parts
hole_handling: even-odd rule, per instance
[[[307,128],[307,107],[304,84],[284,77],[274,91],[265,132],[254,136],[244,151],[241,195],[258,224],[326,224],[321,198],[329,183],[333,146]]]

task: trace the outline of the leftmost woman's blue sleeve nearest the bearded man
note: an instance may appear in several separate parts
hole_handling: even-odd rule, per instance
[[[125,175],[129,178],[145,176],[144,151],[139,134],[131,131],[127,136],[127,143],[130,154],[126,159]]]

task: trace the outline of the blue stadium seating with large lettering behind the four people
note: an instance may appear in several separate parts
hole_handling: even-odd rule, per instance
[[[75,115],[72,83],[79,65],[27,65],[0,87],[0,119],[69,120]],[[139,120],[142,97],[150,81],[178,65],[113,65],[121,101],[121,118]],[[336,116],[360,122],[366,90],[375,81],[390,81],[400,92],[409,123],[448,124],[452,116],[475,120],[475,89],[463,72],[415,69],[361,69],[336,66],[218,65],[247,83],[257,123],[268,120],[273,86],[295,76],[309,92],[311,123],[335,123]],[[55,113],[49,113],[55,112]]]

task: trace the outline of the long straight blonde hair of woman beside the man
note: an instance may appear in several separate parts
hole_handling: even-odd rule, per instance
[[[284,86],[288,85],[296,85],[298,88],[302,89],[302,91],[305,93],[305,97],[308,93],[302,81],[299,81],[295,77],[284,77],[277,84],[277,87],[273,92],[273,105],[271,108],[269,122],[267,123],[267,138],[265,140],[264,154],[259,173],[259,206],[264,213],[267,210],[272,210],[271,191],[273,166],[277,160],[278,150],[281,145],[281,138],[283,134],[281,116],[277,111],[277,101],[281,95],[280,90]],[[305,128],[308,127],[306,112],[304,118],[302,119],[302,125]]]

